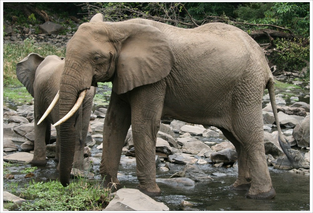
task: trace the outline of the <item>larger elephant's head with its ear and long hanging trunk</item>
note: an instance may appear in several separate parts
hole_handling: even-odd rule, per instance
[[[60,83],[60,118],[74,106],[80,92],[96,82],[113,84],[126,93],[166,77],[175,63],[167,37],[156,27],[131,22],[82,24],[66,47]],[[74,118],[60,126],[60,181],[69,184],[74,155]]]

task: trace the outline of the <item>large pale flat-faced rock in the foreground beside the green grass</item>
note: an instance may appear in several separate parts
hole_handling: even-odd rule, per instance
[[[169,211],[169,208],[137,189],[122,188],[104,211]]]

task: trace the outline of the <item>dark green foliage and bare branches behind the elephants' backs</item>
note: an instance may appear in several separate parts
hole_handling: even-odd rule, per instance
[[[3,3],[4,20],[20,25],[41,24],[47,17],[68,24],[73,17],[75,22],[87,22],[97,12],[107,21],[141,17],[185,28],[224,22],[249,33],[263,48],[269,65],[278,70],[300,72],[310,61],[310,2]]]

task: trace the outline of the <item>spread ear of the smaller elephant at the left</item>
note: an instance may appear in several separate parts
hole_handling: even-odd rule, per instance
[[[44,60],[44,57],[37,53],[30,53],[22,61],[16,64],[16,76],[18,80],[26,87],[29,94],[34,97],[34,80],[37,67]]]

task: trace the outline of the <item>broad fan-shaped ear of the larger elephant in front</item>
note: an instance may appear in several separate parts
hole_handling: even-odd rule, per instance
[[[171,71],[175,57],[167,36],[158,28],[135,23],[118,23],[125,33],[116,61],[112,90],[125,93],[155,83]]]

